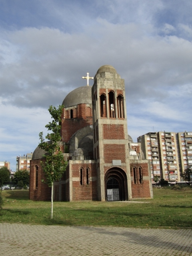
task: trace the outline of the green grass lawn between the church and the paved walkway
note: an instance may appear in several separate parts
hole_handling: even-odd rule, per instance
[[[43,225],[192,227],[192,188],[154,188],[154,199],[134,202],[50,202],[28,200],[26,190],[4,190],[1,222]],[[138,200],[137,200],[138,202]]]

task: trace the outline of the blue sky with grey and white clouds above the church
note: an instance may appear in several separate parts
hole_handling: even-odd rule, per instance
[[[192,131],[191,0],[0,0],[0,161],[33,152],[50,105],[103,65],[125,81],[128,133]],[[90,80],[92,86],[93,80]]]

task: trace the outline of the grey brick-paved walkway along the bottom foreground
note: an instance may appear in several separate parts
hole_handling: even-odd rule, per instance
[[[0,223],[0,255],[192,255],[192,229]]]

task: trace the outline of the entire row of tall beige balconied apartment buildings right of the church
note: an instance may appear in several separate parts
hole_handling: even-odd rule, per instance
[[[192,132],[148,132],[137,138],[144,157],[150,160],[154,177],[169,182],[182,181],[182,173],[192,168]]]

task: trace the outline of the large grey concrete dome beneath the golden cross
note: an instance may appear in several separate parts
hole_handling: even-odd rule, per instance
[[[91,94],[92,86],[82,86],[78,87],[64,98],[62,105],[65,108],[75,106],[81,103],[92,104],[92,94]]]

